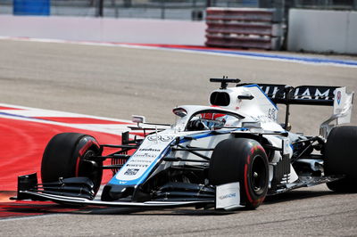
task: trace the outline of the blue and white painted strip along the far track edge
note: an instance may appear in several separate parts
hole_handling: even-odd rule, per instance
[[[176,48],[174,48],[176,49]],[[182,49],[179,49],[182,50]],[[238,55],[245,57],[254,57],[254,58],[262,58],[262,59],[272,59],[272,60],[282,60],[282,61],[299,61],[299,62],[307,62],[313,64],[337,64],[337,65],[345,65],[345,66],[355,66],[357,67],[357,61],[348,61],[348,60],[334,60],[334,59],[322,59],[322,58],[312,58],[312,57],[299,57],[293,55],[279,55],[273,53],[253,53],[253,52],[241,52],[241,51],[228,51],[228,50],[214,50],[214,49],[184,49],[187,51],[196,51],[196,52],[204,52],[204,53],[222,53],[222,54],[230,54],[230,55]]]

